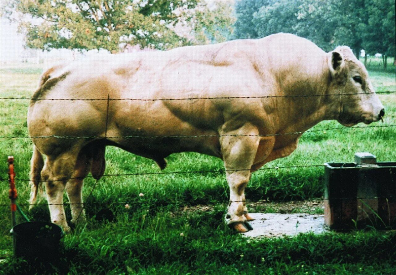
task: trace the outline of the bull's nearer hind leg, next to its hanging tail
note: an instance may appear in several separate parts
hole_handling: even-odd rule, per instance
[[[67,180],[72,176],[76,164],[76,154],[69,151],[59,156],[48,156],[41,172],[42,182],[46,186],[47,201],[51,222],[70,231],[63,208],[63,192]]]

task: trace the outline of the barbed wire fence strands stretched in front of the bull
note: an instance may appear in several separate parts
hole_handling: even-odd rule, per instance
[[[384,95],[392,95],[395,94],[395,91],[380,91],[377,94],[384,94]],[[154,101],[187,101],[187,100],[233,100],[233,99],[270,99],[270,98],[310,98],[310,97],[326,97],[326,96],[345,96],[345,95],[363,95],[367,93],[341,93],[341,94],[326,94],[326,95],[269,95],[269,96],[246,96],[246,97],[185,97],[185,98],[166,98],[166,99],[145,99],[145,98],[110,98],[110,95],[106,98],[91,98],[91,99],[68,99],[68,98],[34,98],[34,97],[0,97],[0,101],[5,100],[29,100],[29,101],[107,101],[107,110],[106,110],[106,121],[105,121],[105,135],[104,136],[59,136],[59,135],[43,135],[43,136],[21,136],[21,135],[2,135],[0,139],[47,139],[47,138],[57,138],[57,139],[122,139],[122,138],[143,138],[143,139],[155,139],[155,138],[178,138],[178,139],[188,139],[188,138],[209,138],[209,137],[278,137],[283,135],[302,135],[303,133],[320,133],[326,131],[345,131],[345,130],[356,130],[356,129],[369,129],[369,128],[389,128],[389,127],[396,127],[396,118],[395,123],[390,125],[373,125],[373,126],[354,126],[354,127],[329,127],[324,129],[313,129],[308,131],[295,131],[289,133],[274,133],[274,134],[267,134],[267,135],[230,135],[230,134],[217,134],[217,135],[158,135],[158,136],[148,136],[148,135],[127,135],[127,136],[108,136],[107,135],[107,128],[109,122],[109,106],[110,102],[112,101],[143,101],[143,102],[154,102]],[[396,102],[395,102],[396,105]],[[393,117],[392,117],[393,118]],[[271,169],[295,169],[295,168],[309,168],[309,167],[323,167],[324,165],[321,164],[312,164],[312,165],[292,165],[292,166],[272,166],[272,167],[262,167],[258,169],[258,171],[263,170],[271,170]],[[235,169],[235,170],[227,170],[227,169],[211,169],[211,170],[203,170],[203,171],[172,171],[172,172],[148,172],[148,173],[116,173],[116,174],[103,174],[103,177],[120,177],[120,176],[144,176],[144,175],[156,175],[156,176],[163,176],[169,174],[209,174],[209,173],[226,173],[226,172],[236,172],[236,171],[250,171],[250,169]],[[86,176],[84,178],[92,178],[92,176]],[[66,181],[70,179],[82,179],[82,178],[62,178],[53,181]],[[30,182],[29,178],[19,178],[17,176],[16,180],[23,181],[23,182]],[[2,178],[0,176],[0,181],[5,182],[7,181],[6,178]],[[98,180],[95,181],[93,187],[91,188],[86,201],[91,197],[95,187],[97,186]],[[357,197],[356,199],[378,199],[379,197]],[[390,198],[390,196],[386,197]],[[343,199],[343,198],[339,198]],[[240,201],[229,201],[232,202],[240,202]],[[244,200],[247,203],[257,203],[257,201],[251,201],[249,199]],[[110,202],[110,203],[101,203],[101,202],[93,202],[93,203],[84,203],[84,209],[88,205],[133,205],[139,204],[141,201],[124,201],[124,202]],[[20,203],[21,206],[30,206],[29,203]],[[48,203],[36,203],[35,205],[48,205]],[[52,204],[52,205],[71,205],[70,203],[63,203],[63,204]],[[0,204],[0,207],[9,206],[9,204]],[[155,207],[156,208],[156,207]],[[81,214],[81,212],[80,212]]]

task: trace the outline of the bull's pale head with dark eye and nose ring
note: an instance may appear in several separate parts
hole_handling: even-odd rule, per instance
[[[349,47],[337,47],[328,53],[331,74],[329,93],[337,102],[337,121],[345,126],[369,124],[385,115],[384,106],[375,94],[364,65]]]

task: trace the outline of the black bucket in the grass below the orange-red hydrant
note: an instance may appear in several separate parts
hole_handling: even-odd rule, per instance
[[[24,222],[11,229],[14,237],[14,256],[25,260],[57,262],[62,229],[51,222]]]

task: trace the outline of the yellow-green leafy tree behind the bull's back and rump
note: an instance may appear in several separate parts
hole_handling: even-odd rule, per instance
[[[7,0],[3,13],[27,47],[46,50],[204,44],[225,40],[233,23],[230,5],[204,0]]]

